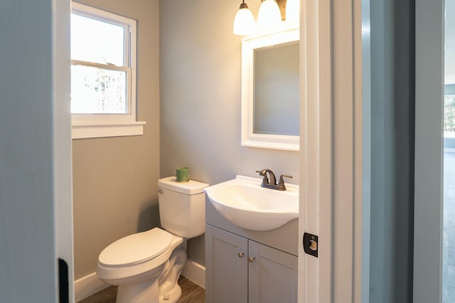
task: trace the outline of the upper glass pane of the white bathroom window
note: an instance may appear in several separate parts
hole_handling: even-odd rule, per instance
[[[124,27],[72,13],[71,59],[124,66]]]

